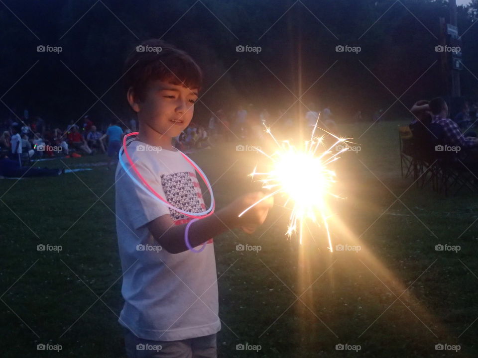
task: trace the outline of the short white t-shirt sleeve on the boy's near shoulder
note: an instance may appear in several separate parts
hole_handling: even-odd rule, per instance
[[[127,162],[126,166],[129,168]],[[160,173],[153,174],[148,168],[139,163],[135,164],[135,167],[143,179],[164,198],[165,195],[160,181]],[[134,178],[141,182],[133,170],[130,170]],[[151,196],[141,189],[139,185],[129,178],[123,168],[118,172],[117,192],[120,205],[124,206],[123,210],[125,210],[135,230],[160,216],[170,215],[169,207],[154,197],[154,194],[151,193]]]

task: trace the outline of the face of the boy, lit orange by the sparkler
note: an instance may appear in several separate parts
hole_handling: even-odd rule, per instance
[[[176,137],[191,122],[197,98],[196,89],[155,81],[144,101],[138,103],[139,122],[162,135]]]

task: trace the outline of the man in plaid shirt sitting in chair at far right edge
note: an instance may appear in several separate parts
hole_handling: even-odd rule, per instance
[[[432,111],[432,124],[436,123],[443,129],[445,144],[451,146],[460,146],[462,149],[478,146],[478,139],[475,137],[465,137],[458,125],[448,117],[447,102],[441,97],[434,98],[429,103]]]

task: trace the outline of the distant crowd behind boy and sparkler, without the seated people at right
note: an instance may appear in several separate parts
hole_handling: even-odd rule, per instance
[[[320,114],[319,125],[334,132],[336,125],[330,109],[326,107]],[[305,124],[314,126],[318,117],[319,111],[316,110],[315,104],[310,103],[304,117]],[[239,105],[236,110],[228,113],[222,109],[212,113],[206,125],[192,122],[174,138],[173,145],[190,153],[211,149],[218,142],[260,139],[266,123],[275,125],[275,128],[283,129],[284,132],[290,132],[295,127],[294,118],[285,110],[278,110],[276,115],[270,115],[265,108],[259,110],[252,104]],[[13,161],[18,164],[18,168],[22,168],[31,161],[47,158],[80,158],[85,155],[107,154],[107,168],[110,169],[112,161],[118,155],[122,136],[137,130],[138,125],[134,118],[126,122],[113,120],[105,127],[102,123],[94,123],[88,115],[79,123],[71,120],[62,130],[51,123],[45,123],[41,117],[29,117],[28,111],[25,110],[22,117],[0,122],[0,159],[6,157],[10,161],[10,167],[16,168]]]

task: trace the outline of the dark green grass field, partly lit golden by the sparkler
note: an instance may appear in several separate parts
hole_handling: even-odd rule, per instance
[[[478,356],[477,196],[444,197],[402,179],[398,124],[380,123],[362,137],[370,123],[341,128],[361,150],[337,163],[336,192],[347,198],[332,202],[333,244],[360,251],[328,252],[313,226],[315,242],[288,242],[288,211],[279,205],[253,235],[215,238],[220,357]],[[215,183],[218,207],[257,188],[246,175],[258,154],[236,144],[191,156]],[[1,357],[125,357],[114,194],[114,171],[105,166],[0,181]],[[37,251],[39,244],[62,251]],[[237,251],[238,244],[261,250]],[[460,251],[436,251],[438,244]],[[40,343],[62,351],[39,352]],[[437,344],[448,346],[436,351]]]

